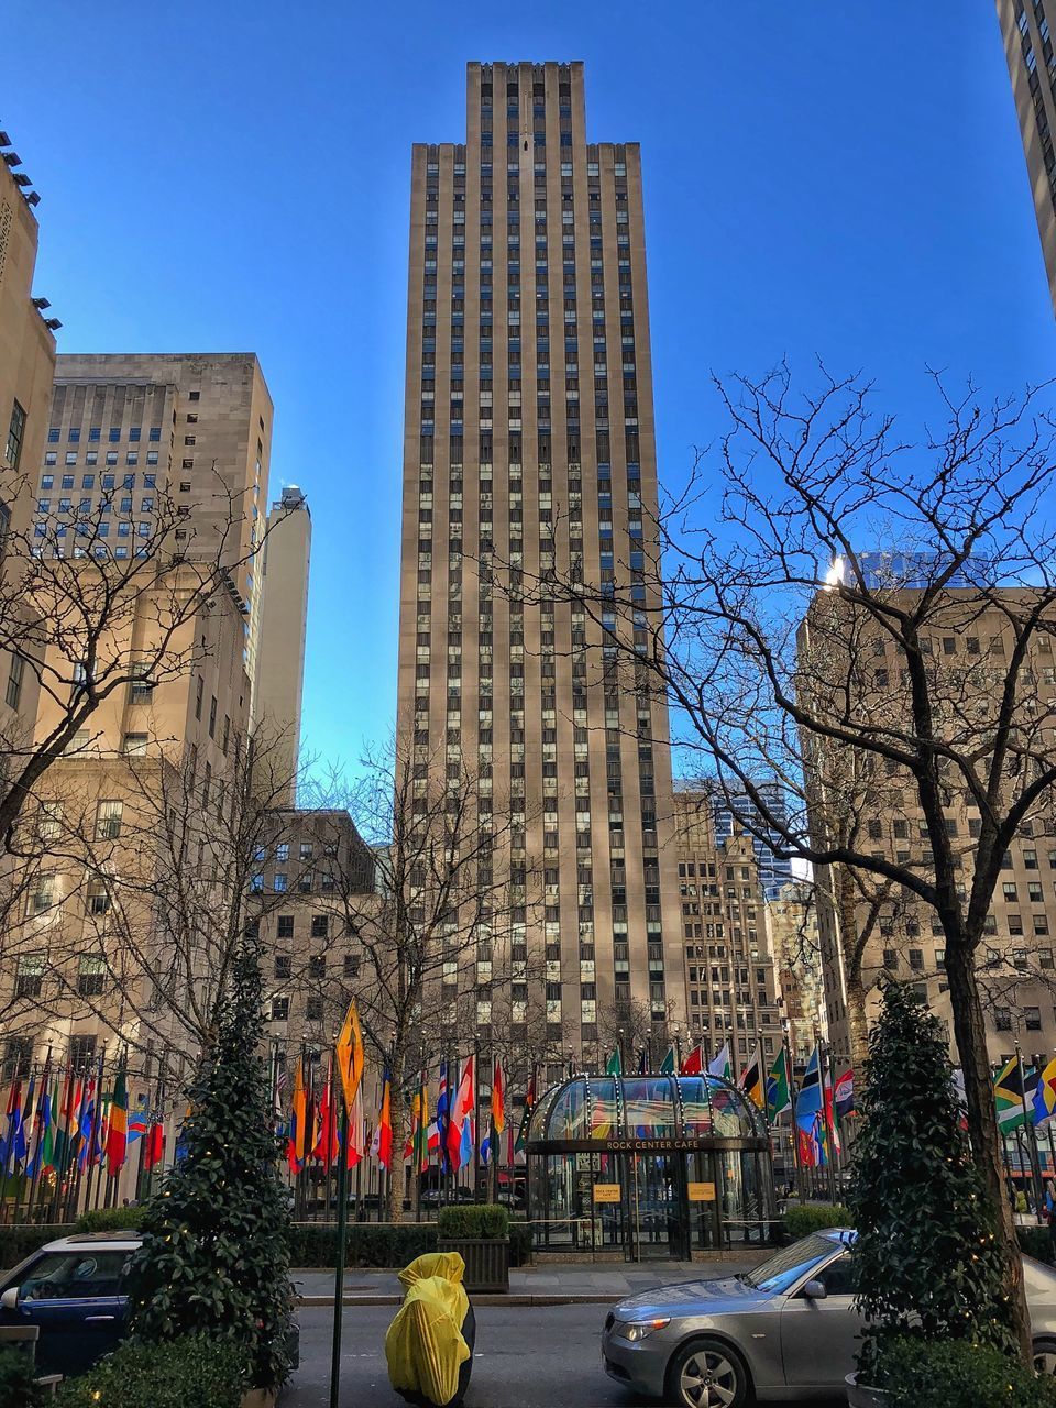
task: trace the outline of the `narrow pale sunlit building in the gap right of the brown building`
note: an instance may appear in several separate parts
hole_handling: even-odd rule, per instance
[[[783,884],[766,901],[766,929],[777,963],[793,1063],[798,1069],[810,1060],[818,1033],[826,1031],[818,911],[810,881]]]

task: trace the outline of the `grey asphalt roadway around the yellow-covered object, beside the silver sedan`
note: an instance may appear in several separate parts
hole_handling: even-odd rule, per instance
[[[345,1307],[342,1408],[404,1408],[389,1387],[387,1305]],[[331,1311],[304,1307],[301,1369],[280,1408],[327,1408]],[[601,1369],[604,1305],[491,1307],[477,1311],[477,1352],[466,1408],[639,1408]],[[655,1408],[655,1404],[652,1405]]]

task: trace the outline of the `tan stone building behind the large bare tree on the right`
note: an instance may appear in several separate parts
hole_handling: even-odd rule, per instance
[[[924,562],[924,559],[921,559]],[[897,584],[891,601],[908,603],[917,589]],[[993,729],[1002,703],[1002,686],[1017,648],[1018,617],[1038,611],[1036,597],[1012,589],[980,596],[955,587],[936,598],[921,627],[922,650],[931,659],[936,735],[946,741],[952,762],[943,766],[943,817],[953,843],[953,863],[967,893],[977,838],[980,805],[963,783],[957,758],[984,758],[993,750]],[[1045,618],[1042,618],[1045,620]],[[853,622],[856,624],[848,624]],[[853,642],[846,659],[836,659],[841,641]],[[821,594],[800,627],[800,689],[817,681],[849,681],[857,718],[881,721],[907,717],[908,673],[904,656],[862,612],[842,617]],[[811,663],[812,660],[812,663]],[[1011,719],[1022,748],[1050,756],[1046,719],[1056,708],[1056,631],[1031,638],[1017,676],[1018,693]],[[843,707],[841,704],[841,707]],[[912,731],[912,725],[907,725]],[[1033,741],[1033,742],[1031,742]],[[862,766],[862,752],[822,749],[817,741],[807,759],[807,803],[815,843],[834,817],[852,825],[852,845],[872,850],[895,866],[934,877],[934,857],[915,784],[904,769]],[[1039,765],[1041,766],[1041,765]],[[1005,788],[1019,788],[1021,774],[1010,763]],[[1001,814],[1002,804],[998,803]],[[863,948],[860,980],[865,1015],[872,1019],[883,974],[914,983],[945,1021],[952,1036],[949,983],[945,977],[945,939],[931,905],[897,884],[865,877],[867,893],[850,888],[852,901],[835,867],[815,867],[815,900],[829,1039],[838,1055],[850,1050],[855,1017],[853,964],[848,955]],[[1019,1041],[1024,1052],[1056,1048],[1056,798],[1043,793],[1031,807],[1004,855],[1004,867],[986,917],[976,956],[977,981],[994,1062],[1007,1059]]]

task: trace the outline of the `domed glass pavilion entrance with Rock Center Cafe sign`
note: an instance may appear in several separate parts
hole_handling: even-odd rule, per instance
[[[536,1252],[691,1260],[770,1242],[762,1114],[715,1076],[576,1076],[528,1126]]]

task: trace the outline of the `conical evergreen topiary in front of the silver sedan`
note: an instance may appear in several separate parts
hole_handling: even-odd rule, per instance
[[[938,1018],[888,983],[869,1036],[848,1200],[866,1318],[863,1381],[900,1333],[1017,1350],[1001,1247],[952,1076]]]

